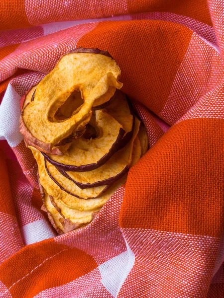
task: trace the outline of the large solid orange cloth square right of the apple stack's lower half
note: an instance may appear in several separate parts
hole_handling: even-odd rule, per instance
[[[171,128],[130,170],[120,225],[220,236],[224,189],[217,186],[224,182],[224,148],[216,148],[223,136],[220,119],[191,119]]]

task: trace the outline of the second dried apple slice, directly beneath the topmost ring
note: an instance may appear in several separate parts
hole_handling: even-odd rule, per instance
[[[124,130],[105,110],[96,111],[95,139],[75,140],[64,155],[45,154],[44,157],[59,169],[65,171],[91,171],[102,166],[117,151],[122,142]]]

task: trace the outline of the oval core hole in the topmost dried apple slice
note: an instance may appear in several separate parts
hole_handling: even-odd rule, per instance
[[[55,121],[62,121],[70,118],[79,112],[84,100],[82,98],[81,92],[78,90],[73,91],[66,101],[60,106],[54,115]]]

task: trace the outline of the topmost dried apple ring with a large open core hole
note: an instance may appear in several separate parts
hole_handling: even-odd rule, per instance
[[[119,76],[120,69],[108,52],[70,51],[39,82],[35,99],[21,113],[20,132],[26,140],[51,152],[55,144],[78,128],[94,103],[102,104],[111,98],[116,88],[122,87]],[[58,109],[74,91],[80,91],[84,100],[80,109],[65,120],[55,121]]]

